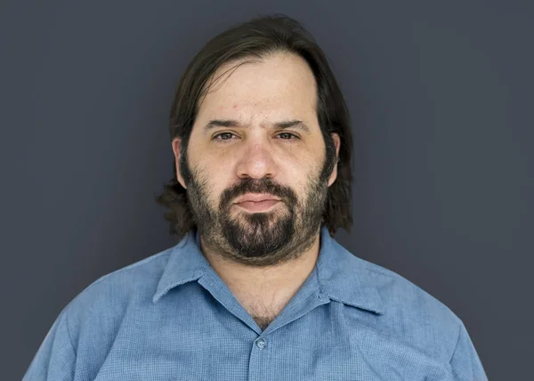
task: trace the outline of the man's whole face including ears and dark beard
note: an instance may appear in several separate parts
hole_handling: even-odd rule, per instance
[[[317,238],[337,174],[339,137],[327,155],[312,70],[278,53],[229,62],[214,78],[187,151],[173,142],[203,246],[255,266],[293,259]]]

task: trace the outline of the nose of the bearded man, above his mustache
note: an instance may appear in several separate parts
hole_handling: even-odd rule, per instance
[[[260,142],[258,139],[255,139],[255,142],[247,142],[245,150],[241,152],[236,170],[241,179],[274,177],[276,165],[269,142]]]

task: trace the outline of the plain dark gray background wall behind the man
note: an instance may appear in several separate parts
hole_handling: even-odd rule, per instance
[[[174,88],[210,36],[301,20],[352,112],[354,254],[464,320],[492,380],[531,377],[530,1],[5,1],[1,5],[3,380],[101,275],[176,243]]]

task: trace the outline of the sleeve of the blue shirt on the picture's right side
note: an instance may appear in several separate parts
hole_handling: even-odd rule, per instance
[[[463,323],[460,325],[457,346],[450,359],[450,367],[454,381],[488,381],[481,360]]]

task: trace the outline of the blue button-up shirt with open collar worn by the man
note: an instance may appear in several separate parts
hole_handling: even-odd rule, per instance
[[[465,326],[320,231],[317,263],[262,331],[190,231],[61,311],[24,380],[487,380]]]

